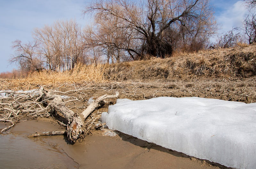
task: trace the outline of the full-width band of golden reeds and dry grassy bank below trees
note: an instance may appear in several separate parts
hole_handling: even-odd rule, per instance
[[[239,45],[197,53],[175,52],[166,59],[154,58],[119,64],[78,65],[67,72],[34,72],[26,78],[2,80],[2,89],[29,89],[36,85],[108,81],[188,82],[202,77],[252,77],[256,75],[256,44]]]

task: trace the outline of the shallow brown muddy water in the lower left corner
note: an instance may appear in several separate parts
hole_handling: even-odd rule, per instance
[[[20,123],[11,133],[0,135],[1,168],[78,168],[79,164],[59,146],[59,143],[66,144],[63,136],[54,137],[55,143],[50,137],[27,137],[29,130],[37,128],[33,127],[34,123]]]

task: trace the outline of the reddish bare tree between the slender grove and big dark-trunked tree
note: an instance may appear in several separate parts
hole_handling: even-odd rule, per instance
[[[129,55],[124,53],[129,46],[131,32],[123,25],[122,20],[117,17],[100,19],[100,14],[95,15],[95,24],[84,29],[86,46],[91,50],[92,56],[105,56],[107,62],[114,63],[124,60]],[[95,57],[94,57],[95,60]],[[125,59],[126,60],[126,59]]]

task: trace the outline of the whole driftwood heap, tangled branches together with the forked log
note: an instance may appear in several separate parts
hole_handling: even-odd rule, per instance
[[[50,134],[67,133],[71,142],[76,142],[79,138],[84,138],[95,121],[95,118],[86,118],[94,109],[104,104],[104,99],[118,97],[116,95],[103,95],[94,100],[81,114],[73,112],[65,106],[66,102],[79,101],[78,99],[63,102],[67,97],[56,95],[52,91],[40,87],[29,91],[0,91],[0,121],[11,123],[10,126],[2,129],[0,133],[10,129],[15,123],[29,118],[50,116],[52,112],[58,111],[68,121],[66,131],[54,131]],[[86,121],[85,121],[86,120]],[[37,136],[37,135],[35,135]]]

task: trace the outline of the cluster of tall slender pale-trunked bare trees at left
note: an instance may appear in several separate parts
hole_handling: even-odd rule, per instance
[[[81,28],[75,20],[57,21],[52,26],[36,28],[34,38],[46,59],[46,68],[54,71],[72,69],[80,60],[84,42]]]

